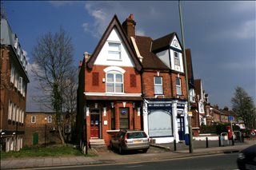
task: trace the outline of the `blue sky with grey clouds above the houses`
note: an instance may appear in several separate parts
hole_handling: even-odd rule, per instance
[[[72,38],[74,64],[93,53],[110,20],[122,23],[134,14],[136,34],[161,38],[181,28],[178,1],[3,1],[12,31],[29,58],[26,111],[43,111],[34,101],[38,83],[30,71],[38,38],[62,26]],[[194,78],[202,80],[211,105],[232,108],[241,86],[256,101],[256,2],[182,1],[186,48],[191,49]]]

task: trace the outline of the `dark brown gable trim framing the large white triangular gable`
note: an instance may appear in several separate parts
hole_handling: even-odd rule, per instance
[[[101,40],[98,42],[98,45],[96,46],[96,48],[94,49],[94,53],[92,53],[91,57],[89,58],[89,60],[87,61],[87,66],[92,69],[92,67],[94,66],[94,61],[96,60],[96,58],[98,57],[98,53],[100,52],[100,50],[102,49],[104,43],[106,42],[107,38],[109,37],[110,33],[112,30],[114,30],[114,28],[116,30],[118,30],[118,33],[120,34],[122,41],[124,42],[124,44],[126,45],[126,48],[128,50],[128,52],[130,53],[130,57],[132,58],[132,60],[134,61],[134,65],[135,68],[140,71],[142,69],[142,65],[140,63],[140,61],[138,60],[138,57],[136,56],[136,53],[134,52],[134,49],[130,46],[130,42],[126,36],[126,33],[124,32],[121,23],[118,20],[117,15],[114,15],[114,17],[112,18],[109,26],[107,26],[106,31],[104,32],[104,34],[102,35]]]

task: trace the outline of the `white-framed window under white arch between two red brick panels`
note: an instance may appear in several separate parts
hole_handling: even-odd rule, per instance
[[[123,81],[121,73],[106,74],[106,92],[123,93]]]

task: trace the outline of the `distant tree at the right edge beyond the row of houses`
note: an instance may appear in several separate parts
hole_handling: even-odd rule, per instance
[[[242,119],[246,129],[255,128],[256,109],[252,97],[242,87],[237,87],[231,99],[234,113]]]

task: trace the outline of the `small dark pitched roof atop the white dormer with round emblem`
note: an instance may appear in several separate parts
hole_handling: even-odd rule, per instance
[[[171,33],[171,34],[167,34],[166,36],[163,36],[162,38],[155,39],[152,44],[152,52],[158,53],[164,49],[169,49],[170,43],[174,39],[175,35],[176,35],[176,38],[178,39],[178,36],[175,32]],[[178,43],[181,45],[179,39],[178,39]]]

